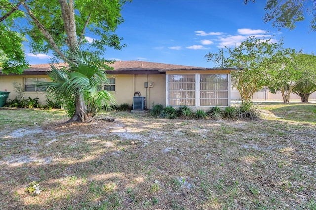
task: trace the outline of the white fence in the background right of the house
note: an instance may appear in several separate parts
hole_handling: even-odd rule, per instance
[[[238,100],[240,99],[240,93],[237,90],[231,90],[231,100]],[[268,90],[256,92],[253,95],[253,100],[283,100],[281,93],[270,93]],[[291,93],[290,101],[291,100],[301,100],[301,97],[296,95],[295,93]],[[309,97],[309,101],[316,101],[316,92],[312,93]]]

